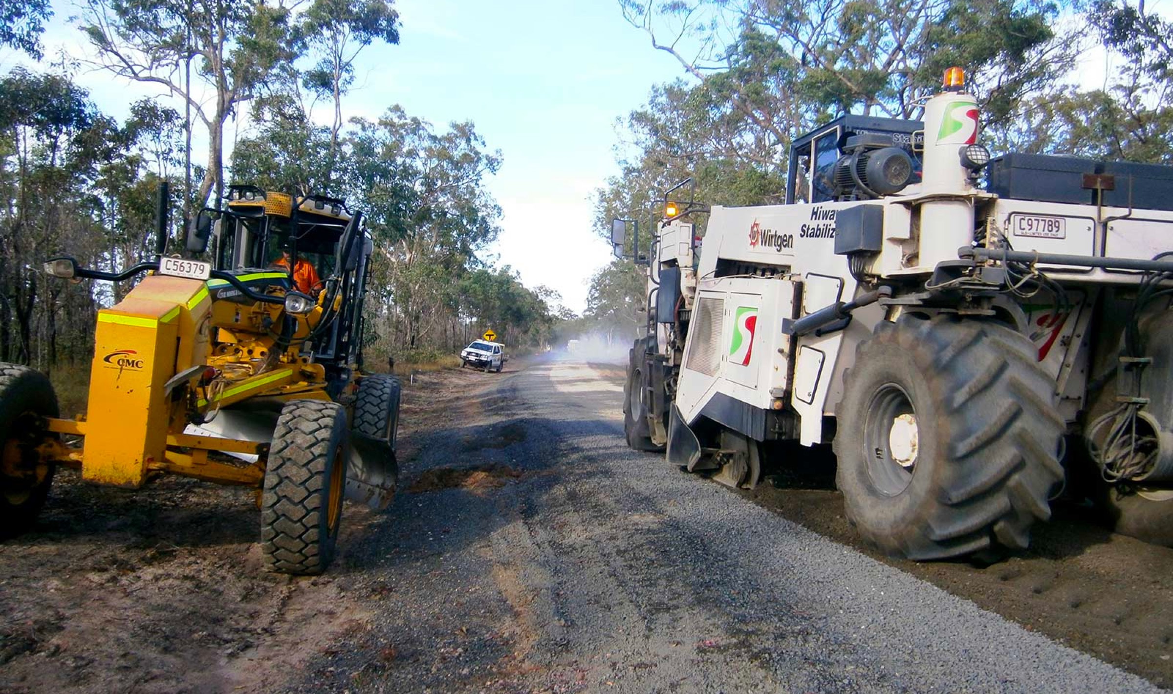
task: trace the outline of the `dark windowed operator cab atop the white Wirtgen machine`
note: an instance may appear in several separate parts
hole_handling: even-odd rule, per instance
[[[921,121],[848,114],[820,125],[791,144],[786,204],[842,199],[842,186],[836,185],[836,164],[849,154],[848,140],[857,136],[863,136],[872,149],[894,147],[907,151],[913,162],[913,183],[920,181],[920,150],[924,144],[924,124]]]

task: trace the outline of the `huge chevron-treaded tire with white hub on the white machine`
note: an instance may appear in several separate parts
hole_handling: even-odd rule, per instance
[[[847,518],[909,559],[1025,549],[1063,478],[1064,421],[1035,346],[991,321],[881,322],[843,374],[834,449]]]

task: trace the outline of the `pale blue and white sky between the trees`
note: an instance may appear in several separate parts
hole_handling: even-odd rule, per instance
[[[47,55],[84,55],[83,38],[68,21],[77,11],[61,1],[54,7]],[[395,7],[400,45],[372,46],[360,56],[344,115],[377,117],[399,103],[438,127],[473,121],[503,156],[488,182],[503,211],[502,233],[487,256],[511,265],[527,286],[557,290],[582,312],[591,274],[610,260],[609,244],[591,230],[591,198],[616,171],[615,120],[642,104],[653,83],[679,76],[679,64],[652,49],[615,0],[398,0]],[[0,53],[0,72],[22,61]],[[102,72],[76,79],[117,117],[141,96],[162,96]],[[328,122],[328,104],[316,116]],[[233,128],[243,134],[248,124],[230,124],[229,138]],[[198,159],[202,142],[194,147]]]

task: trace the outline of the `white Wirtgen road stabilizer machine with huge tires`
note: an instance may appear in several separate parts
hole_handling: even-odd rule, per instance
[[[1024,549],[1080,484],[1173,545],[1173,166],[991,161],[963,81],[794,141],[785,205],[665,195],[628,443],[746,488],[833,442],[848,519],[911,559]]]

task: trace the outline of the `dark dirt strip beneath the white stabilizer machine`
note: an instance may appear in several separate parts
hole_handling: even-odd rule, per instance
[[[591,366],[623,382],[622,368]],[[764,470],[757,489],[731,492],[1028,630],[1158,686],[1173,686],[1173,549],[1108,532],[1091,509],[1058,503],[1052,520],[1035,528],[1030,550],[1003,562],[890,559],[862,545],[843,517],[829,449],[792,447],[774,454],[787,464]]]

